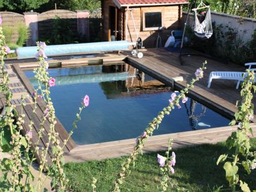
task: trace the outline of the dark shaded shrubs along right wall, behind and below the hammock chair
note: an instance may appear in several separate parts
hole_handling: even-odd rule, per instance
[[[253,32],[249,42],[243,41],[243,36],[239,36],[238,29],[229,26],[212,24],[213,35],[207,40],[201,40],[195,36],[193,29],[189,26],[186,29],[186,36],[189,38],[188,47],[197,51],[210,54],[221,61],[232,62],[239,65],[254,62],[256,60],[256,31]]]

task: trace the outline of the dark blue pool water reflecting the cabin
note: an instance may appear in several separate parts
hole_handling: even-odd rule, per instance
[[[25,71],[36,86],[33,71]],[[67,131],[72,129],[84,95],[90,106],[83,110],[72,138],[77,144],[136,138],[161,109],[168,106],[172,90],[127,64],[52,68],[56,79],[51,98],[56,115]],[[154,135],[226,126],[227,118],[193,99],[165,116]]]

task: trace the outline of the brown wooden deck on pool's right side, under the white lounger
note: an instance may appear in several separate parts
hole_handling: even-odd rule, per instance
[[[204,78],[196,82],[195,87],[189,91],[189,97],[228,118],[232,118],[236,113],[236,101],[241,99],[241,88],[236,90],[236,81],[213,79],[211,88],[207,88],[207,80],[212,71],[244,72],[244,67],[200,56],[184,56],[182,57],[183,65],[180,65],[179,53],[167,52],[164,49],[148,49],[143,54],[144,57],[141,59],[129,56],[126,62],[170,86],[175,77],[182,76],[184,81],[174,82],[174,89],[178,91],[182,90],[191,78],[195,77],[196,68],[202,67],[202,63],[207,60]],[[255,98],[253,104],[256,104]]]

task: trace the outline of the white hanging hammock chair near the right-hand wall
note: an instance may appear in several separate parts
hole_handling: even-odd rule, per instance
[[[198,19],[198,10],[202,10],[207,8],[205,19],[200,22]],[[201,1],[197,8],[193,9],[195,13],[195,27],[194,32],[195,35],[199,38],[208,39],[212,36],[212,19],[211,19],[211,9],[210,6]]]

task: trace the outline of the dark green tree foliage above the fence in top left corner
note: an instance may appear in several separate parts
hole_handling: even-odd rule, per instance
[[[0,0],[0,8],[3,11],[27,12],[38,9],[42,4],[48,3],[49,0]]]

